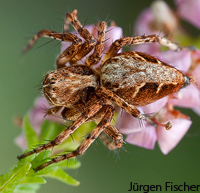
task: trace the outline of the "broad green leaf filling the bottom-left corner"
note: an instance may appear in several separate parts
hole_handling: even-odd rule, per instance
[[[30,168],[30,163],[18,162],[7,173],[0,176],[0,192],[13,192],[15,187],[24,181]]]

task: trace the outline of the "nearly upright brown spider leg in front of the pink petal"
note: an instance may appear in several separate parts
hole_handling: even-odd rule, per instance
[[[85,61],[87,66],[95,65],[101,60],[101,57],[104,51],[106,27],[107,27],[107,24],[104,21],[102,21],[98,26],[97,43],[94,47],[93,54],[88,56]]]

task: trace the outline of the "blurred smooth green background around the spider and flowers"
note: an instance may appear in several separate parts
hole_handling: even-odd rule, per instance
[[[41,29],[62,30],[65,13],[78,9],[80,20],[96,23],[97,17],[116,21],[124,35],[130,35],[138,14],[149,6],[150,0],[1,0],[0,6],[0,174],[17,162],[21,150],[14,145],[20,129],[13,124],[15,116],[24,115],[32,106],[43,75],[54,69],[60,45],[50,43],[32,49],[26,55],[21,50],[29,38]],[[173,6],[173,2],[171,1]],[[53,27],[54,26],[54,27]],[[35,46],[46,42],[40,40]],[[187,110],[184,110],[186,112]],[[193,125],[179,145],[163,155],[156,146],[154,151],[129,144],[118,154],[110,152],[97,140],[79,160],[81,168],[68,171],[80,180],[79,187],[47,179],[38,192],[101,193],[128,192],[130,182],[164,187],[173,184],[200,184],[200,126],[199,117],[190,113]]]

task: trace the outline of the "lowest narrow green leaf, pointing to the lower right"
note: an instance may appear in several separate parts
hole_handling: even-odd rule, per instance
[[[72,178],[69,174],[64,172],[59,167],[57,167],[51,173],[48,173],[48,174],[46,174],[44,176],[50,177],[50,178],[54,178],[54,179],[60,180],[61,182],[64,182],[64,183],[70,184],[70,185],[74,185],[74,186],[78,186],[80,184],[79,181],[77,181],[74,178]]]

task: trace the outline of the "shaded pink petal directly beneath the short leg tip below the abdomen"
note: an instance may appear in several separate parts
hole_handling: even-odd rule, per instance
[[[142,124],[146,124],[146,122],[143,122]],[[116,127],[123,134],[129,134],[143,130],[139,120],[122,109],[119,111]]]

